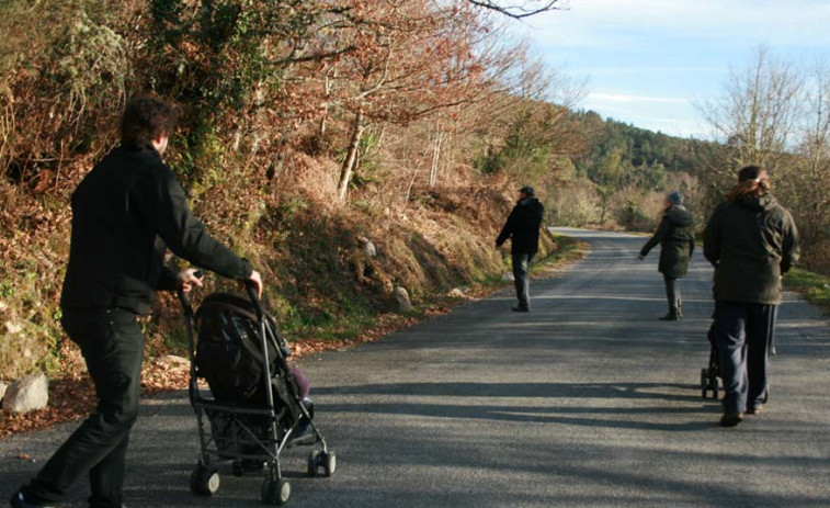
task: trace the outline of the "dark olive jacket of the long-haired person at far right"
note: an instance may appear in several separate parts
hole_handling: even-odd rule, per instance
[[[781,276],[799,257],[793,216],[771,194],[721,203],[703,232],[715,300],[777,305]]]

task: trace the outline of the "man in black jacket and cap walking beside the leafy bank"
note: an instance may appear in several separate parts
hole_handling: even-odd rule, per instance
[[[526,313],[531,311],[530,278],[527,270],[533,257],[539,249],[539,227],[545,207],[534,196],[532,187],[523,187],[519,191],[519,202],[508,216],[504,227],[496,238],[499,248],[510,238],[510,256],[513,260],[513,278],[515,280],[519,305],[513,312]]]

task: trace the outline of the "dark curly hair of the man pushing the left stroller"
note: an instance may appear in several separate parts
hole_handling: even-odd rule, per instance
[[[175,131],[173,106],[151,95],[137,95],[127,102],[121,118],[121,143],[129,148],[144,148],[159,136]]]

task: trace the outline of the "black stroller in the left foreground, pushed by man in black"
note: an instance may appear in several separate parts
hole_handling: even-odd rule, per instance
[[[300,396],[286,363],[292,352],[276,321],[262,308],[253,286],[246,290],[249,300],[213,293],[195,313],[179,292],[187,330],[190,400],[198,420],[200,460],[190,487],[196,495],[216,494],[216,464],[232,461],[235,476],[264,470],[260,497],[282,506],[291,497],[280,465],[287,448],[321,444],[322,450],[308,455],[309,476],[320,467],[327,477],[334,474],[337,456],[314,424],[312,407]],[[209,395],[198,387],[200,379],[207,381]]]

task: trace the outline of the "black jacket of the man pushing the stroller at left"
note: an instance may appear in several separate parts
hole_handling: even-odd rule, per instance
[[[197,267],[247,279],[251,267],[191,213],[159,154],[115,148],[72,194],[72,237],[60,306],[146,314],[156,290],[175,286],[167,248]]]

